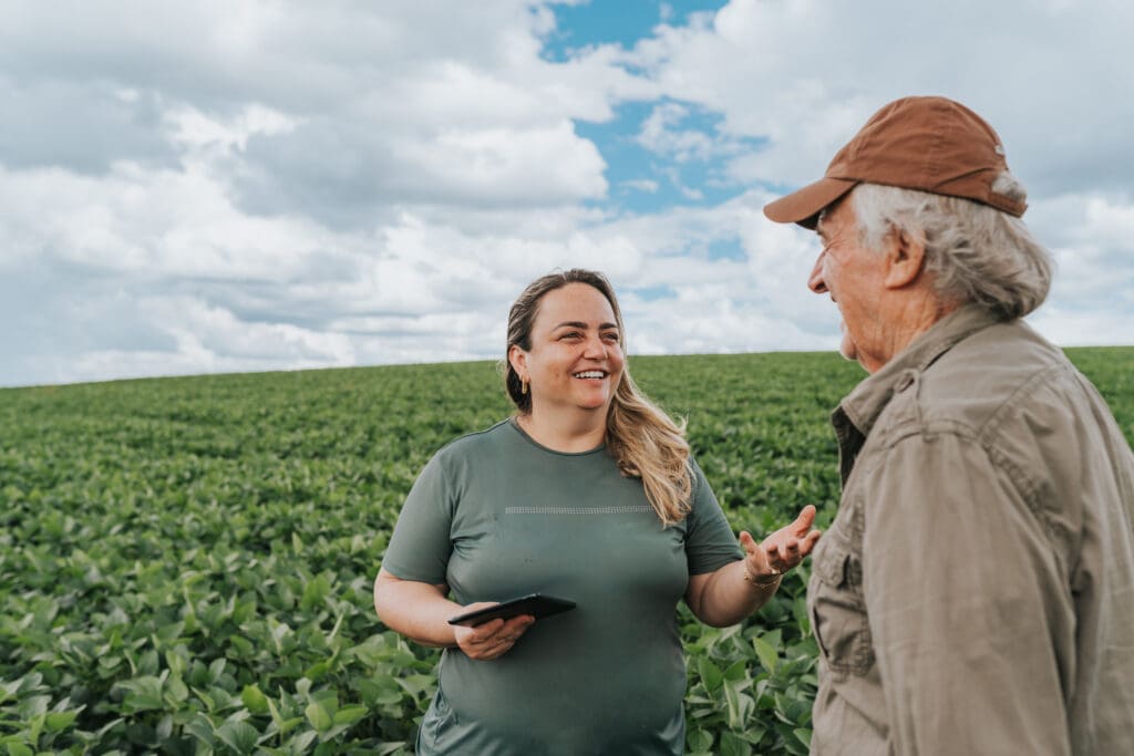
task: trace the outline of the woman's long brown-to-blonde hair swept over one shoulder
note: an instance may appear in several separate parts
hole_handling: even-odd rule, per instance
[[[532,394],[524,393],[519,375],[508,359],[513,345],[524,351],[532,348],[532,326],[540,311],[540,300],[549,291],[568,283],[594,287],[610,303],[618,325],[618,345],[626,351],[623,314],[610,281],[602,273],[574,267],[549,273],[532,281],[516,298],[508,313],[508,346],[505,350],[505,389],[521,415],[532,411]],[[675,423],[665,411],[646,399],[631,377],[629,362],[607,413],[607,449],[623,475],[642,478],[646,499],[662,525],[680,521],[689,511],[693,491],[689,468],[689,444],[685,440],[685,423]]]

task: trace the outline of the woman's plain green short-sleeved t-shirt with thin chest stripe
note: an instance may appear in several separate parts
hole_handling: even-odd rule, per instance
[[[460,604],[528,593],[577,608],[503,656],[446,649],[420,754],[680,754],[689,575],[743,557],[693,465],[693,509],[662,528],[642,482],[606,448],[562,453],[514,421],[439,451],[414,484],[383,567],[448,584]]]

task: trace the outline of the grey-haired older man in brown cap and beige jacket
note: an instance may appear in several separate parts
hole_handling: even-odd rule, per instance
[[[871,375],[832,415],[843,498],[814,554],[818,754],[1134,754],[1134,456],[1019,318],[1051,263],[996,131],[882,108],[764,207]]]

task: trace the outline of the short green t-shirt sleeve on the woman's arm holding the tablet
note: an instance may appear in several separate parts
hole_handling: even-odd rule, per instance
[[[438,452],[417,476],[398,515],[382,559],[387,572],[431,585],[446,581],[452,553],[452,500],[443,451]]]

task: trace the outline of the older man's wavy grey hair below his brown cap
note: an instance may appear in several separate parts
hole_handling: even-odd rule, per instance
[[[1001,173],[993,189],[1023,202],[1024,187]],[[974,303],[997,317],[1023,317],[1051,288],[1052,262],[1024,222],[971,199],[860,184],[850,195],[860,241],[871,249],[891,231],[925,244],[925,271],[947,301]]]

